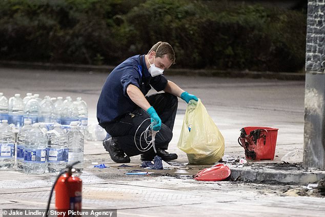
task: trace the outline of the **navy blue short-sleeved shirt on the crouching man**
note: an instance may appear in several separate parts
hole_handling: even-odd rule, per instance
[[[164,75],[151,77],[145,55],[135,55],[119,64],[108,75],[97,103],[97,120],[101,127],[115,122],[119,117],[134,111],[137,105],[127,94],[127,87],[133,84],[146,95],[153,87],[156,91],[166,88]]]

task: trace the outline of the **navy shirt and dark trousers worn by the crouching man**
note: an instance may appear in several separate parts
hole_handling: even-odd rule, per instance
[[[99,125],[105,128],[112,136],[113,141],[128,156],[143,153],[136,148],[134,135],[138,126],[144,120],[149,119],[141,125],[135,135],[137,144],[139,140],[145,144],[144,138],[141,138],[140,134],[150,124],[150,116],[132,102],[127,94],[127,87],[132,84],[146,95],[151,87],[156,91],[164,90],[168,82],[164,75],[152,77],[145,63],[145,55],[135,55],[114,68],[106,79],[97,103]],[[158,93],[146,96],[146,98],[162,122],[161,129],[155,137],[155,146],[167,149],[172,139],[177,97],[169,93]]]

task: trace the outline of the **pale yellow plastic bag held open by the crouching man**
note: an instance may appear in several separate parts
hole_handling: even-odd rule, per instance
[[[186,108],[177,147],[191,164],[214,164],[225,153],[225,139],[199,99]]]

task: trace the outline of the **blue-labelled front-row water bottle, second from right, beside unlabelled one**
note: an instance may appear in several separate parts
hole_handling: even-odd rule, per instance
[[[47,168],[49,172],[60,172],[68,164],[68,135],[60,124],[54,124],[54,129],[47,134]]]

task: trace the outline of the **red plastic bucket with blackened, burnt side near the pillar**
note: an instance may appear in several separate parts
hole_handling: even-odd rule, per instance
[[[273,160],[277,135],[277,128],[244,127],[238,143],[245,149],[248,160]]]

